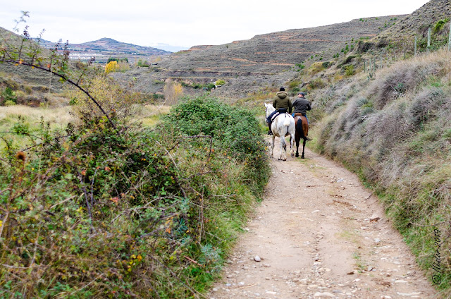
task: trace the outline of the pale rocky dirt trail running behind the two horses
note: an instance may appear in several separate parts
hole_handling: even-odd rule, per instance
[[[271,164],[266,197],[207,298],[439,298],[357,176],[308,150]]]

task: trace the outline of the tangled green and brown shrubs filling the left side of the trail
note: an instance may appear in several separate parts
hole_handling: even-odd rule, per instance
[[[268,180],[259,123],[208,97],[111,121],[0,135],[0,298],[199,298],[218,274]]]

